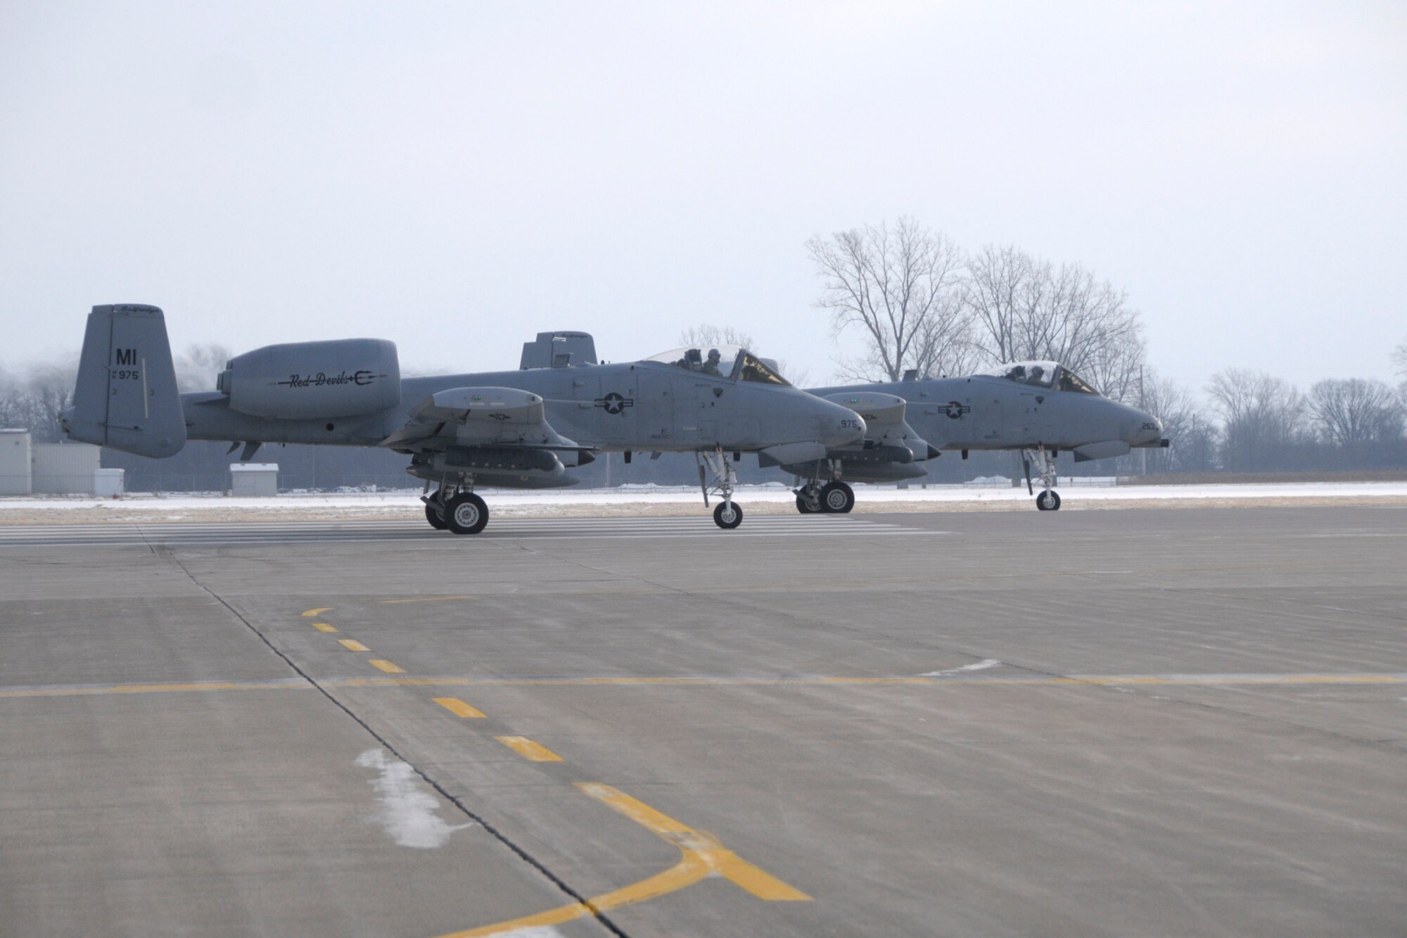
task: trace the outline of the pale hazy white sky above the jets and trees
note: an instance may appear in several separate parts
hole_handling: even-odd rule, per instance
[[[1128,290],[1151,363],[1407,339],[1401,3],[0,0],[0,362],[94,303],[515,368],[698,323],[829,377],[813,234],[912,214]]]

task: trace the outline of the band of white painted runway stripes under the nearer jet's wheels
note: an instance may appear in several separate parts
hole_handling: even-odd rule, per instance
[[[946,535],[891,521],[847,515],[760,515],[723,531],[711,517],[646,518],[498,518],[483,534],[457,537],[433,531],[419,521],[242,521],[242,523],[122,523],[62,525],[0,525],[3,546],[236,546],[270,544],[357,544],[415,541],[469,545],[492,539],[640,539],[640,538],[834,538]]]

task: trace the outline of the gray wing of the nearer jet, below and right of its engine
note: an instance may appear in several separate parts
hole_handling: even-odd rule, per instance
[[[514,387],[450,387],[411,407],[405,427],[381,441],[401,452],[445,446],[585,449],[547,423],[539,394]]]

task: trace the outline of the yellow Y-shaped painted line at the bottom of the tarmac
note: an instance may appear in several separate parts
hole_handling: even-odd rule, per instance
[[[771,873],[753,866],[733,851],[725,848],[716,837],[695,831],[694,828],[675,821],[667,814],[656,811],[649,804],[639,801],[629,794],[613,789],[609,784],[594,782],[577,783],[577,787],[590,794],[597,801],[619,811],[636,824],[644,827],[661,839],[680,848],[680,862],[647,879],[632,883],[602,896],[595,896],[584,903],[570,903],[557,908],[550,908],[535,915],[523,915],[509,921],[481,925],[469,931],[456,931],[442,938],[483,938],[485,935],[502,935],[519,928],[546,928],[560,925],[574,918],[599,915],[604,911],[633,906],[650,899],[658,899],[668,893],[678,892],[711,876],[722,876],[730,883],[747,890],[758,899],[768,901],[810,901],[810,896],[799,889],[784,883]]]

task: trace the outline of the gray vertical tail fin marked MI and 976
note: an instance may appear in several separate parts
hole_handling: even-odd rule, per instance
[[[166,320],[155,306],[94,306],[83,335],[73,407],[63,414],[73,439],[139,456],[172,456],[186,445]]]

